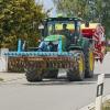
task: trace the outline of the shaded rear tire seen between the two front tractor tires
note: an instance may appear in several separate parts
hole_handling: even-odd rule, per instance
[[[55,79],[57,79],[58,69],[48,69],[48,70],[45,70],[44,74],[45,73],[46,73],[45,78],[55,78]]]

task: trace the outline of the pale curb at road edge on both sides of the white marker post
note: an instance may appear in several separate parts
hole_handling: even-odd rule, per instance
[[[110,99],[110,95],[107,95],[103,97],[102,102],[105,102],[109,99]],[[80,108],[79,110],[95,110],[95,102],[91,102],[90,105],[85,106],[85,107]]]

